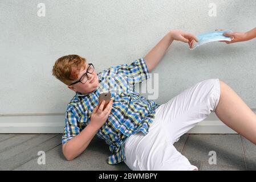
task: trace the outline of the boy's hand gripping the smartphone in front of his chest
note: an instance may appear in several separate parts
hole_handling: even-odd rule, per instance
[[[103,109],[105,101],[103,100],[99,105],[97,105],[92,111],[90,125],[96,129],[100,129],[101,126],[108,119],[108,115],[111,113],[113,100],[108,102],[108,105]]]

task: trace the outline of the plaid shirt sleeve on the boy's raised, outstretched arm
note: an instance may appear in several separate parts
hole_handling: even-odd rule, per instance
[[[147,64],[144,58],[137,59],[131,64],[121,64],[115,67],[117,74],[132,78],[134,83],[141,83],[150,78]]]

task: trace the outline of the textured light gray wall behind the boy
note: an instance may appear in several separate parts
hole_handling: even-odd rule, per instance
[[[46,16],[37,15],[45,3]],[[208,15],[216,3],[217,16]],[[78,54],[98,72],[143,57],[172,29],[200,34],[256,27],[256,1],[0,1],[0,114],[64,113],[74,92],[51,75],[55,60]],[[208,78],[220,78],[256,107],[256,40],[194,49],[174,42],[160,64],[164,103]]]

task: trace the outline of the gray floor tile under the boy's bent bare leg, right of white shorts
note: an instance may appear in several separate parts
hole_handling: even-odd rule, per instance
[[[188,159],[209,163],[216,152],[216,163],[221,166],[246,169],[241,137],[238,134],[190,134],[182,154]]]

